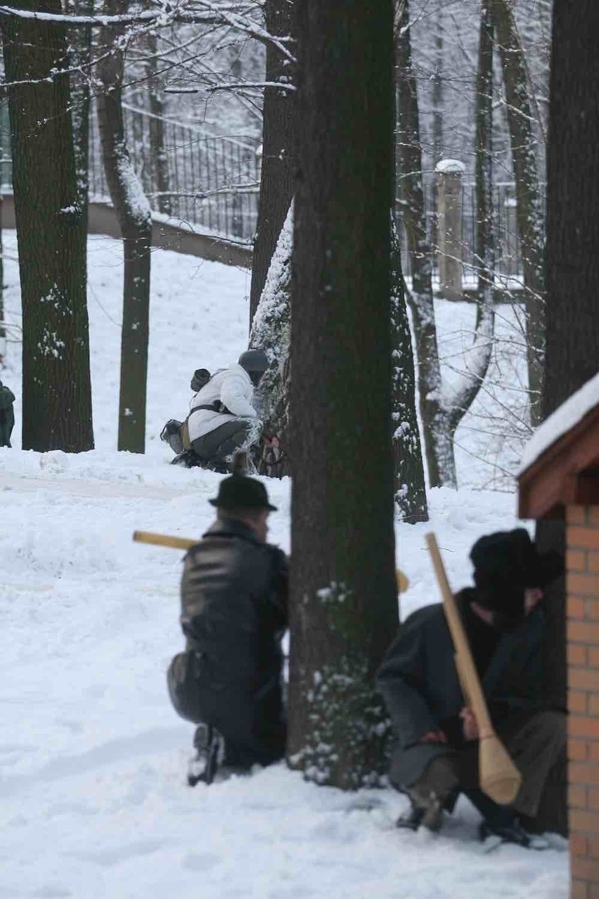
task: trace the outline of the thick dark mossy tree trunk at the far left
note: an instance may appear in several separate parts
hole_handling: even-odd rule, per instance
[[[61,13],[58,0],[22,2]],[[69,114],[66,30],[3,20],[22,292],[22,448],[93,447],[85,232]],[[24,49],[26,48],[26,50]]]

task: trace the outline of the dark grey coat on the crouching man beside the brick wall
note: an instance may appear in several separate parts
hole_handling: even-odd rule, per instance
[[[476,600],[475,590],[456,596],[458,609]],[[514,632],[503,633],[482,678],[489,712],[541,711],[543,705],[542,636],[545,618],[537,607]],[[454,663],[454,645],[443,605],[425,606],[401,625],[377,676],[377,686],[392,718],[397,745],[392,758],[392,781],[409,787],[428,761],[446,752],[442,743],[420,744],[428,731],[459,715],[464,706]]]

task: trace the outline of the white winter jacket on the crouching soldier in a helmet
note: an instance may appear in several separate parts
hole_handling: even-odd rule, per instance
[[[217,371],[207,385],[191,398],[188,418],[189,440],[193,442],[198,437],[215,431],[221,424],[233,421],[234,418],[258,418],[256,410],[251,405],[253,395],[254,388],[250,376],[241,365],[230,365],[227,369]],[[216,400],[220,400],[231,414],[211,412],[209,409],[193,411],[198,405],[211,405]]]

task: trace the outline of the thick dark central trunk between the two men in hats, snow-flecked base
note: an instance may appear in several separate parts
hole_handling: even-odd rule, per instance
[[[296,0],[290,734],[304,777],[384,767],[397,625],[391,433],[392,2]],[[367,123],[367,127],[365,127]]]

